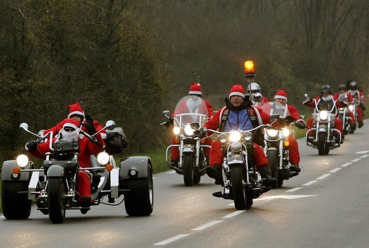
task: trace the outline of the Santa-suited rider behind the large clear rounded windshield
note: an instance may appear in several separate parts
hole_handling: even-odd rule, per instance
[[[201,96],[202,95],[202,91],[201,91],[201,86],[199,83],[192,83],[190,85],[190,91],[189,91],[189,95],[195,95],[195,96]],[[211,118],[213,115],[213,107],[211,106],[211,104],[206,101],[201,99],[205,104],[206,104],[206,110],[204,109],[196,109],[196,107],[192,107],[191,104],[188,101],[183,101],[181,102],[180,106],[177,106],[176,111],[178,112],[207,112],[208,113],[208,117]],[[201,105],[202,107],[203,105]],[[172,117],[175,115],[175,112],[171,115]],[[205,144],[208,146],[211,146],[213,143],[212,139],[210,137],[207,137],[205,139]],[[172,139],[172,145],[173,144],[178,144],[178,140],[177,140],[177,136],[174,136]],[[204,153],[205,156],[209,156],[210,155],[210,148],[204,148]],[[172,147],[171,148],[171,160],[175,161],[175,160],[179,160],[179,148],[178,147]]]

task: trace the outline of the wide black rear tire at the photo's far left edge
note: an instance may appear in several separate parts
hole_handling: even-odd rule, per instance
[[[28,181],[2,181],[2,209],[7,219],[27,219],[32,200],[28,200]]]

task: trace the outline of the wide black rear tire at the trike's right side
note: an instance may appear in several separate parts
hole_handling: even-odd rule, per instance
[[[147,177],[124,181],[124,188],[130,190],[125,194],[126,212],[130,216],[150,215],[154,209],[154,188],[150,165],[147,170]]]

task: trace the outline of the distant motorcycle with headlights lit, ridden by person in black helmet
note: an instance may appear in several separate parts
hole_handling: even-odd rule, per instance
[[[309,99],[308,95],[305,97]],[[306,145],[318,149],[319,155],[328,154],[330,150],[339,147],[342,139],[341,132],[334,128],[334,120],[336,118],[333,112],[336,106],[337,100],[334,101],[332,109],[319,110],[317,101],[313,99],[315,103],[315,110],[313,113],[313,128],[306,132],[305,141]],[[310,131],[314,131],[314,135],[309,134]],[[335,135],[335,132],[337,133]],[[337,137],[338,136],[338,137]]]

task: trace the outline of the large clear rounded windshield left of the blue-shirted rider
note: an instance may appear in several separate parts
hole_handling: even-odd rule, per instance
[[[184,126],[189,122],[198,122],[200,126],[208,118],[206,103],[198,96],[186,96],[179,100],[174,110],[174,125]]]

